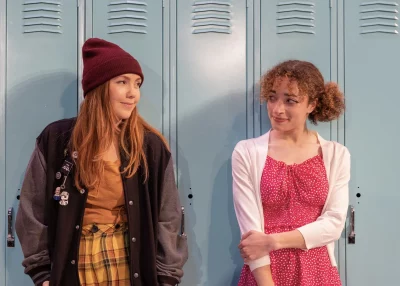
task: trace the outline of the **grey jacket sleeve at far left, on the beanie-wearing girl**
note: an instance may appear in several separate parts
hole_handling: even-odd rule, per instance
[[[51,263],[47,248],[47,226],[44,224],[46,162],[35,146],[22,184],[15,230],[25,259],[22,265],[35,285],[50,278]]]

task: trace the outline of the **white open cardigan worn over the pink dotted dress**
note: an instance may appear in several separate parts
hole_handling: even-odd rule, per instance
[[[344,228],[349,203],[350,153],[343,145],[318,140],[328,177],[329,192],[321,215],[315,222],[298,230],[307,249],[327,245],[329,257],[336,266],[335,241]],[[237,143],[232,154],[233,200],[241,234],[250,230],[264,232],[264,214],[260,195],[261,175],[268,154],[269,132]],[[251,271],[269,265],[269,255],[249,263]]]

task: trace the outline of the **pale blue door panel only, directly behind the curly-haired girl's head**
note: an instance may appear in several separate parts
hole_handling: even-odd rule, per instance
[[[310,61],[326,80],[331,79],[334,67],[331,66],[329,0],[261,1],[261,71],[265,73],[275,64],[289,59]],[[261,114],[261,131],[265,133],[271,127],[265,107]],[[330,123],[309,127],[326,139],[335,132]]]

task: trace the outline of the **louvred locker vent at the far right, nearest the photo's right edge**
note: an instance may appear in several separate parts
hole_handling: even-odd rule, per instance
[[[360,4],[360,34],[398,34],[396,2],[371,1]]]

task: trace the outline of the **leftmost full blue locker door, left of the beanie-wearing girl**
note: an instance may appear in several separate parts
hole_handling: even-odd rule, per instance
[[[76,2],[8,0],[6,48],[6,123],[0,137],[5,136],[5,207],[14,208],[15,218],[35,138],[50,122],[76,116]],[[15,239],[15,247],[6,248],[5,285],[32,285]]]

